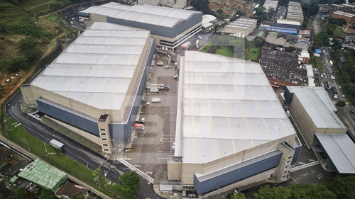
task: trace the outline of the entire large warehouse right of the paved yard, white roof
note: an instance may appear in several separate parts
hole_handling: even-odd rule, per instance
[[[176,123],[168,179],[199,195],[285,181],[300,153],[293,125],[254,62],[185,51]]]

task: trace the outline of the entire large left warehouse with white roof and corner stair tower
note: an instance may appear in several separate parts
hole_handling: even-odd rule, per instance
[[[148,30],[93,23],[31,84],[26,104],[84,130],[82,136],[111,153],[129,142],[154,53]]]

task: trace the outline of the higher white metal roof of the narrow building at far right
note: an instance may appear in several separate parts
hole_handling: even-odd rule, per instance
[[[288,90],[295,93],[317,128],[346,129],[323,87],[288,86]]]

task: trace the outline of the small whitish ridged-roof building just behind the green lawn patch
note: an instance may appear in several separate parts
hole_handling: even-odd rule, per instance
[[[245,38],[256,28],[256,19],[239,18],[224,27],[224,33],[232,34],[239,38]]]

